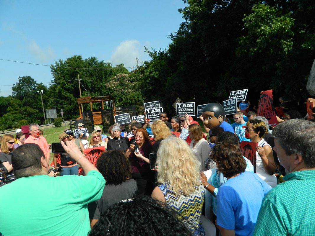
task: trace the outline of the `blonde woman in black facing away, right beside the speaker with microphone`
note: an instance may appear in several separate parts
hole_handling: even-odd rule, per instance
[[[152,152],[156,153],[163,139],[172,135],[169,127],[164,121],[157,120],[151,125],[152,134],[155,136],[152,144]]]

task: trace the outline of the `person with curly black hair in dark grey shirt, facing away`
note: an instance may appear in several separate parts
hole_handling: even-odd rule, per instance
[[[89,203],[91,228],[100,219],[110,205],[123,199],[133,198],[138,191],[137,182],[131,178],[129,160],[120,150],[103,152],[96,167],[106,180],[102,197]]]

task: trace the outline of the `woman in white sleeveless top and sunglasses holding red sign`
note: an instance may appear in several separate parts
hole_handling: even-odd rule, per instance
[[[255,173],[273,188],[277,185],[277,177],[274,175],[277,166],[273,159],[271,146],[263,139],[266,132],[268,130],[263,121],[247,121],[245,138],[258,143],[256,146],[256,165],[253,164]]]

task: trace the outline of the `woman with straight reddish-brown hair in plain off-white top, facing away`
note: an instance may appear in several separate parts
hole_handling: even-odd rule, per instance
[[[211,148],[207,140],[203,138],[203,132],[199,125],[191,124],[188,126],[188,135],[192,139],[190,147],[197,159],[201,162],[199,171],[206,171],[205,161],[208,159]]]

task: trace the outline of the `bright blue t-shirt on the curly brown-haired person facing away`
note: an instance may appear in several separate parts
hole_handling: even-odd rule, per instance
[[[235,235],[252,235],[262,199],[271,189],[248,171],[228,179],[217,194],[217,224],[234,229]]]

